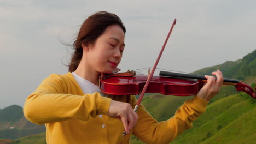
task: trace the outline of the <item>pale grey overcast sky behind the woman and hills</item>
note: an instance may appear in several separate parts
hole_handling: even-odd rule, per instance
[[[255,50],[256,1],[0,0],[0,108],[24,105],[45,77],[66,74],[75,34],[106,10],[126,26],[122,71],[153,67],[176,18],[158,68],[186,71],[236,61]],[[62,43],[61,43],[62,42]]]

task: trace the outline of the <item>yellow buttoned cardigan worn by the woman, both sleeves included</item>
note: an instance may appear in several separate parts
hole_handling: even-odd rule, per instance
[[[126,136],[119,119],[107,116],[111,99],[136,105],[134,95],[102,97],[84,94],[71,73],[52,74],[26,99],[25,117],[46,125],[46,141],[57,143],[129,143],[135,135],[146,143],[168,143],[192,127],[192,122],[206,110],[207,101],[198,97],[185,101],[174,117],[157,122],[144,108],[137,110],[139,119]],[[102,114],[102,118],[98,115]]]

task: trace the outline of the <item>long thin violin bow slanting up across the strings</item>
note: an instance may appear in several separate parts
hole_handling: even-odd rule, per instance
[[[169,33],[168,33],[166,39],[165,39],[165,43],[164,43],[164,45],[162,45],[162,49],[161,49],[161,51],[160,51],[160,53],[159,53],[159,55],[158,55],[158,59],[156,59],[155,65],[154,65],[152,71],[150,72],[150,75],[148,76],[148,79],[147,79],[147,81],[146,81],[146,84],[144,85],[144,87],[143,87],[143,89],[142,89],[141,95],[139,96],[139,99],[138,99],[138,101],[137,101],[137,104],[135,105],[135,107],[134,107],[134,109],[133,109],[135,112],[137,112],[138,107],[139,107],[139,105],[141,104],[141,100],[142,100],[142,98],[144,97],[144,94],[145,94],[145,92],[146,92],[146,90],[147,90],[148,84],[149,84],[150,80],[152,79],[152,76],[153,76],[153,74],[154,74],[154,72],[155,72],[156,66],[158,65],[158,62],[159,62],[159,60],[160,60],[160,57],[162,56],[162,52],[163,52],[164,49],[165,49],[165,45],[167,44],[167,41],[168,41],[168,39],[169,39],[169,37],[170,37],[170,35],[171,35],[171,33],[172,33],[172,29],[173,29],[173,27],[174,27],[175,24],[176,24],[176,19],[174,19],[174,21],[173,21],[173,23],[172,23],[171,29],[170,29],[170,31],[169,31]],[[126,135],[126,131],[123,132],[123,136],[124,136],[124,135]]]

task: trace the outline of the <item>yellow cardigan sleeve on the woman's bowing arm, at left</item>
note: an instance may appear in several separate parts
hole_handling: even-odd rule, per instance
[[[51,75],[27,97],[24,105],[25,117],[38,125],[60,122],[68,118],[83,121],[89,117],[108,114],[111,99],[100,93],[73,95],[75,87],[58,75]]]

